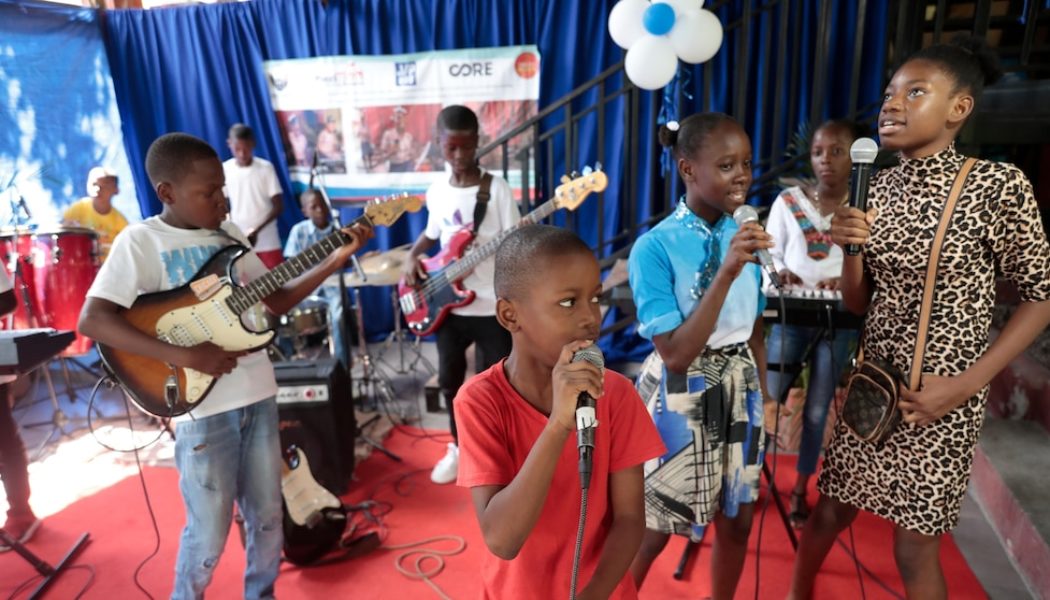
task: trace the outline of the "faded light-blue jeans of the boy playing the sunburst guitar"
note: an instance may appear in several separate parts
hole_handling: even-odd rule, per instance
[[[226,546],[234,501],[245,518],[245,598],[273,598],[284,543],[280,463],[274,398],[176,426],[186,527],[171,598],[204,597]]]

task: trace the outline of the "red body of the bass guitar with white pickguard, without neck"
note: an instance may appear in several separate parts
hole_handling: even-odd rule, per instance
[[[398,284],[401,312],[416,335],[434,333],[454,308],[474,302],[475,292],[464,288],[462,280],[445,281],[445,269],[459,261],[472,242],[471,229],[457,231],[440,252],[420,262],[426,270],[425,280],[416,287],[408,286],[404,280]]]

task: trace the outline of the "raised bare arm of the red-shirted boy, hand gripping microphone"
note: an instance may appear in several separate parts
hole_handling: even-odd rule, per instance
[[[571,361],[576,350],[590,344],[573,342],[562,348],[551,373],[553,404],[547,427],[510,483],[470,489],[485,544],[504,560],[518,556],[540,518],[558,458],[575,430],[576,398],[581,392],[602,396],[602,371],[586,360]]]

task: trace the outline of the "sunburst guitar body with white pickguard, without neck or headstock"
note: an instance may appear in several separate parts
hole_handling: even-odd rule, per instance
[[[247,248],[227,246],[208,260],[190,283],[164,292],[143,294],[123,312],[135,329],[176,346],[205,342],[226,350],[258,350],[274,337],[272,330],[247,329],[227,299],[236,290],[234,262]],[[193,409],[215,385],[215,378],[167,363],[99,345],[107,369],[124,385],[142,410],[162,417]]]

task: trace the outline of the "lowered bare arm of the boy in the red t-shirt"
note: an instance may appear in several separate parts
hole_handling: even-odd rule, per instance
[[[612,525],[602,546],[594,575],[578,596],[608,598],[624,578],[646,531],[646,506],[643,498],[642,465],[636,464],[609,475],[609,510]],[[588,515],[588,518],[601,518]]]

